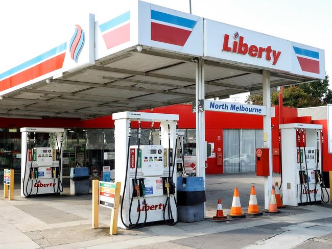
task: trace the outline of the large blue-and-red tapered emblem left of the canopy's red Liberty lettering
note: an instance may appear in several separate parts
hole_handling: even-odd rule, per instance
[[[197,20],[151,10],[151,40],[184,46]]]

